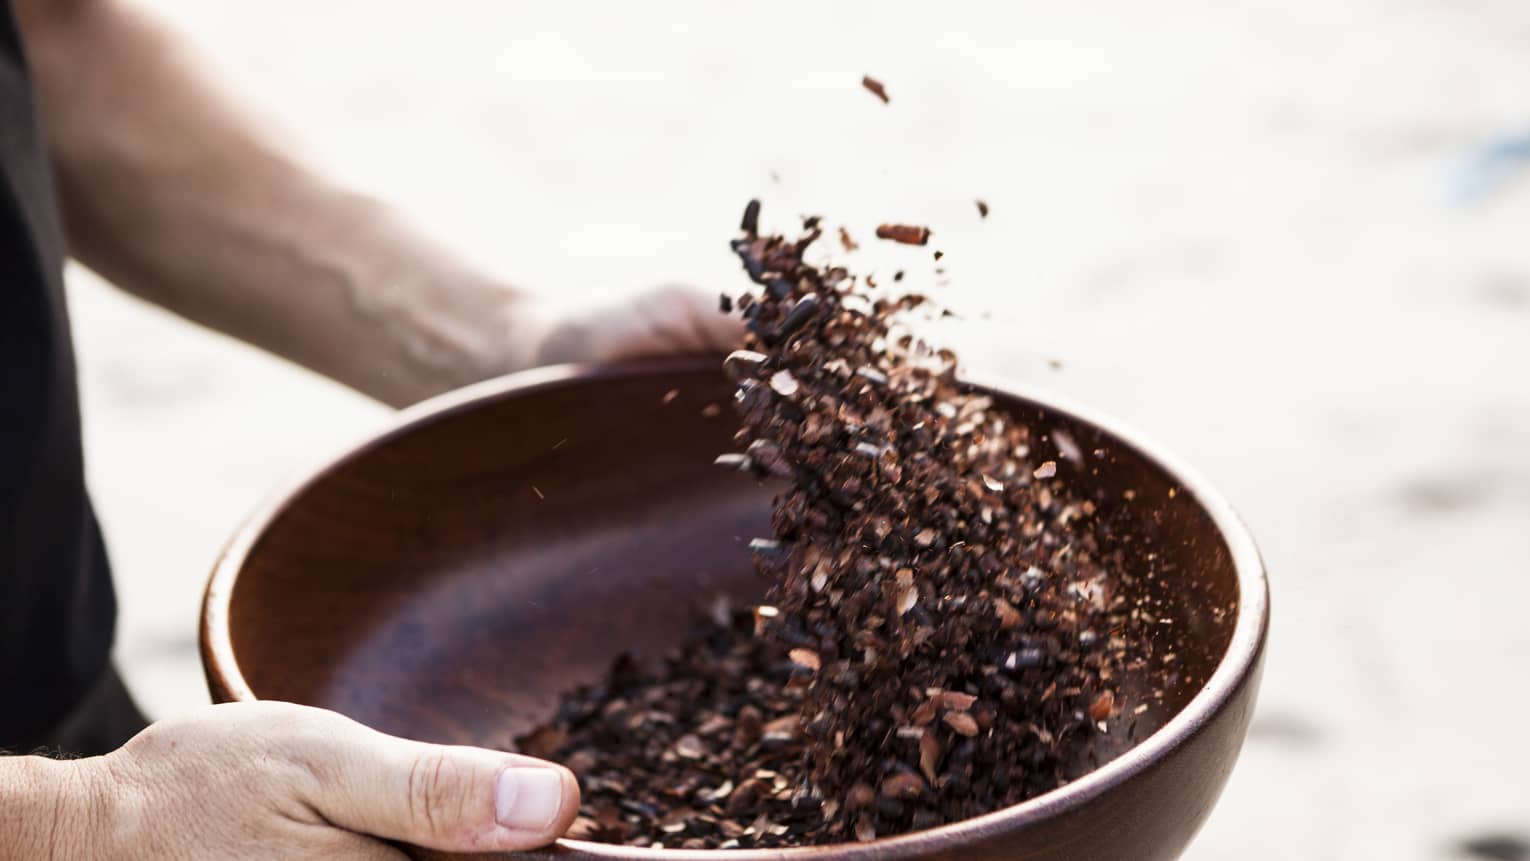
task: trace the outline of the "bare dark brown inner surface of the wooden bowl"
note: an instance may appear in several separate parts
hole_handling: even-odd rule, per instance
[[[1210,515],[1125,440],[994,393],[1082,453],[1057,459],[1128,544],[1123,589],[1158,624],[1126,682],[1144,705],[1103,740],[1167,722],[1227,650],[1238,578]],[[219,699],[338,710],[431,742],[513,748],[558,691],[621,651],[676,644],[719,595],[763,595],[747,543],[770,532],[771,488],[713,466],[733,450],[715,361],[546,373],[415,413],[278,500],[214,577],[233,662]],[[1155,696],[1154,691],[1161,691]],[[1137,708],[1132,708],[1137,711]]]

